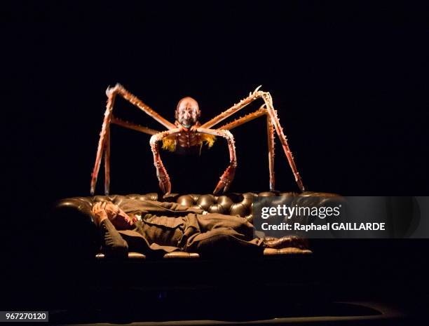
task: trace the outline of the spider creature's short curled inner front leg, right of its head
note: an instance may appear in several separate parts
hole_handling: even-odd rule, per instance
[[[226,142],[228,142],[229,149],[229,166],[226,168],[222,176],[220,177],[219,182],[217,183],[216,188],[213,193],[219,193],[223,189],[223,192],[229,189],[231,182],[236,175],[237,168],[237,157],[236,157],[236,145],[234,142],[234,136],[229,130],[219,130],[219,129],[209,129],[209,128],[195,128],[197,133],[206,133],[209,135],[215,135],[219,137],[224,137]]]

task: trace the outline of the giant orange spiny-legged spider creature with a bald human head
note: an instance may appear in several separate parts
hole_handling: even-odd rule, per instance
[[[159,142],[163,142],[163,149],[170,149],[170,151],[175,151],[177,146],[184,149],[189,149],[190,147],[196,145],[203,145],[205,142],[209,147],[212,146],[216,136],[224,137],[229,147],[229,166],[226,168],[220,181],[218,182],[213,193],[218,193],[223,189],[226,191],[229,189],[231,182],[233,181],[236,168],[237,168],[237,158],[236,158],[236,147],[234,144],[234,137],[229,130],[238,127],[248,121],[258,118],[259,116],[266,117],[266,128],[268,135],[268,166],[270,172],[270,189],[274,189],[274,130],[277,133],[280,144],[282,144],[283,151],[287,157],[290,168],[294,173],[295,181],[297,182],[299,189],[304,191],[304,185],[302,184],[301,177],[297,170],[297,167],[294,163],[294,158],[292,152],[289,149],[287,144],[287,139],[283,133],[283,128],[280,125],[279,118],[277,116],[277,111],[273,108],[273,99],[268,92],[259,90],[261,86],[249,93],[249,96],[245,97],[243,100],[234,104],[232,107],[222,112],[218,116],[212,118],[212,120],[203,123],[202,125],[198,122],[200,116],[200,109],[196,100],[193,100],[192,97],[184,97],[177,104],[177,109],[175,111],[175,123],[170,123],[165,118],[160,116],[156,111],[151,109],[147,104],[144,104],[139,100],[135,95],[132,95],[128,90],[125,90],[120,84],[116,84],[113,88],[107,88],[107,107],[104,112],[104,121],[102,124],[102,130],[100,133],[100,141],[98,142],[97,156],[95,158],[95,165],[91,179],[91,194],[95,192],[95,184],[97,183],[97,175],[100,170],[100,163],[102,156],[104,155],[104,193],[109,194],[109,185],[110,185],[110,125],[114,123],[116,125],[121,125],[122,127],[129,128],[132,130],[137,130],[142,133],[147,133],[152,135],[150,140],[151,151],[154,154],[154,165],[156,167],[156,176],[158,177],[159,186],[163,193],[170,193],[171,183],[170,177],[168,177],[167,170],[161,161],[161,156],[159,154]],[[114,101],[116,95],[121,95],[125,100],[134,104],[136,107],[144,111],[144,113],[154,118],[156,121],[165,126],[168,130],[157,131],[151,128],[143,127],[142,125],[136,125],[128,121],[123,121],[119,118],[116,118],[113,115]],[[254,100],[261,98],[264,100],[257,111],[254,111],[247,116],[222,125],[222,127],[213,129],[214,125],[217,125],[219,122],[223,121],[225,118],[236,114],[240,109],[247,106]]]

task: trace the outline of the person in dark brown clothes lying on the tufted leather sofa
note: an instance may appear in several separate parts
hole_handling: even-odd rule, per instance
[[[120,205],[97,202],[92,208],[106,257],[127,257],[128,252],[162,257],[175,251],[234,257],[261,255],[265,248],[306,248],[297,236],[259,238],[244,217],[158,201],[125,199]]]

